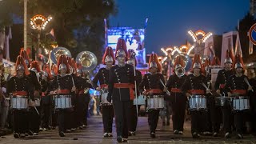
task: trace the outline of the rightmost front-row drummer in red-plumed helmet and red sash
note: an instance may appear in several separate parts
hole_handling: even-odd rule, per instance
[[[234,63],[235,74],[230,76],[224,89],[228,93],[229,97],[247,96],[248,91],[252,90],[252,86],[248,86],[248,84],[246,84],[246,80],[249,81],[249,79],[243,74],[244,64],[240,54],[235,56]],[[242,128],[244,116],[245,113],[243,110],[238,110],[234,113],[234,126],[236,127],[237,138],[239,139],[243,138]]]

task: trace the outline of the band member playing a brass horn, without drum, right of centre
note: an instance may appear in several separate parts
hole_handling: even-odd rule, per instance
[[[170,90],[170,96],[166,100],[170,100],[171,103],[174,134],[183,134],[187,98],[180,88],[186,79],[184,66],[184,60],[178,56],[174,63],[174,75],[171,75],[166,83],[166,87]]]

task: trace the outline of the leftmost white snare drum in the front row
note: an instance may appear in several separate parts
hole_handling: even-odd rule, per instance
[[[10,108],[24,110],[28,108],[28,98],[22,95],[15,95],[10,98]]]

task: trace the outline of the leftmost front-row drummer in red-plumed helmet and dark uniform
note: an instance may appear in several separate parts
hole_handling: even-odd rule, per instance
[[[13,96],[22,96],[32,99],[31,105],[34,106],[34,88],[32,82],[28,75],[30,71],[28,70],[24,58],[18,56],[16,65],[15,65],[16,74],[14,77],[10,78],[10,81],[7,82],[7,94],[12,93]],[[27,107],[27,103],[24,102]],[[24,138],[28,127],[26,123],[28,121],[28,111],[27,109],[13,109],[13,122],[14,122],[14,138]]]

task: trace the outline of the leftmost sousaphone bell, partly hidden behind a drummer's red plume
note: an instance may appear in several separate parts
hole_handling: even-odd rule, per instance
[[[51,59],[51,61],[52,61],[55,65],[57,65],[58,58],[59,58],[59,56],[61,56],[62,54],[66,55],[66,57],[72,58],[71,53],[70,53],[70,50],[67,50],[65,47],[56,47],[56,48],[54,48],[53,50],[51,50],[51,52],[50,52],[50,59]]]

